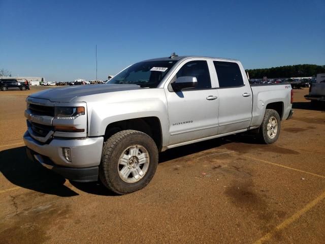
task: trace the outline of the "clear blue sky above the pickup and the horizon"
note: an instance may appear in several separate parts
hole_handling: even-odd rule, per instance
[[[0,69],[106,79],[143,59],[206,55],[245,69],[325,65],[325,1],[0,0]]]

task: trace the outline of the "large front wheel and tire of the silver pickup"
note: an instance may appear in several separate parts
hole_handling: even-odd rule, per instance
[[[150,136],[135,130],[120,131],[104,143],[99,178],[109,190],[124,195],[147,186],[157,165],[158,149]]]

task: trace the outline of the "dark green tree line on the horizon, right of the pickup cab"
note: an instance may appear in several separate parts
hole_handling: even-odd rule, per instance
[[[325,73],[325,65],[288,65],[272,67],[268,69],[246,70],[250,79],[263,78],[289,78],[289,77],[310,77],[319,73]]]

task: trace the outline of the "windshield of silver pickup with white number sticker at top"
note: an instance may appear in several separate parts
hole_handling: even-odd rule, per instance
[[[164,60],[137,63],[114,76],[107,84],[136,84],[156,88],[176,62]]]

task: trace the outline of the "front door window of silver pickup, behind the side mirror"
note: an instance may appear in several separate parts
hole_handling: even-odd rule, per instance
[[[197,89],[211,88],[209,67],[207,62],[204,60],[190,61],[186,63],[176,74],[177,78],[183,76],[197,77]]]

